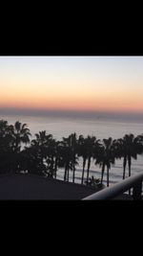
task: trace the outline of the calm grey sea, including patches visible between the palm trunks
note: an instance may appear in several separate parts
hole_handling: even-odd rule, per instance
[[[96,120],[88,120],[84,118],[62,118],[62,117],[40,117],[40,116],[4,116],[0,115],[0,119],[5,119],[9,121],[9,124],[14,124],[15,121],[19,120],[22,123],[28,124],[28,127],[31,129],[32,137],[34,134],[41,130],[47,130],[48,133],[51,133],[54,138],[57,140],[61,139],[63,136],[66,137],[70,135],[72,132],[76,132],[77,135],[83,134],[94,135],[98,139],[109,138],[112,136],[113,139],[121,138],[125,134],[133,133],[134,135],[138,135],[143,133],[143,123],[135,123],[135,122],[118,122],[112,120],[100,121]],[[82,161],[80,159],[79,166],[76,167],[75,172],[75,182],[79,183],[81,180],[81,168]],[[143,172],[143,156],[138,155],[137,160],[133,160],[132,164],[132,175],[139,174]],[[116,160],[115,165],[112,166],[110,171],[110,183],[113,184],[122,179],[122,160]],[[63,178],[64,171],[60,170],[57,174],[57,178]],[[85,172],[85,176],[86,176]],[[91,173],[90,175],[94,175],[95,177],[101,176],[101,169],[98,166],[95,166],[92,162]],[[128,175],[128,170],[127,170]],[[71,173],[72,178],[72,173]],[[104,182],[106,182],[106,172],[104,176]]]

